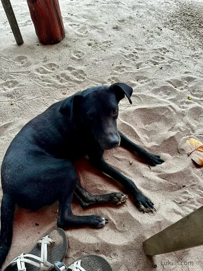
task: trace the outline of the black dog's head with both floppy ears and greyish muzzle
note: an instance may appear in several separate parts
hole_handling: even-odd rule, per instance
[[[75,125],[78,121],[85,124],[103,149],[112,149],[120,144],[118,103],[126,95],[132,104],[132,93],[133,89],[124,83],[88,88],[64,100],[59,112]]]

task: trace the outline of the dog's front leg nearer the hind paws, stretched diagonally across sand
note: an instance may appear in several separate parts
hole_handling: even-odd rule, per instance
[[[132,180],[126,178],[120,172],[118,172],[113,167],[108,165],[105,162],[105,160],[101,157],[96,158],[94,156],[94,158],[91,158],[89,156],[89,159],[90,159],[90,163],[94,167],[108,174],[110,177],[117,180],[119,183],[121,183],[125,187],[127,193],[130,193],[133,196],[135,200],[135,205],[138,207],[139,211],[153,212],[153,210],[155,210],[155,208],[153,207],[154,204],[151,202],[151,200],[149,200],[146,196],[142,194],[141,191],[139,191],[139,189],[137,188],[137,186]]]

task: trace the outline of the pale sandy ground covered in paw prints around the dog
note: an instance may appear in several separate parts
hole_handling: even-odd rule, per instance
[[[0,4],[0,162],[23,125],[52,103],[78,90],[115,82],[134,89],[133,104],[127,99],[120,103],[119,129],[166,161],[150,169],[121,147],[106,151],[109,164],[151,198],[157,213],[140,213],[131,198],[119,207],[87,210],[74,200],[74,214],[100,214],[109,224],[99,230],[67,230],[65,263],[97,253],[114,271],[202,270],[202,247],[146,257],[142,241],[203,203],[202,168],[183,151],[190,136],[203,140],[203,1],[61,0],[66,38],[54,46],[38,42],[26,1],[11,2],[24,44],[16,45]],[[123,191],[86,160],[76,167],[90,192]],[[5,264],[29,252],[56,227],[57,209],[58,203],[38,212],[17,210]],[[179,265],[164,265],[168,260]]]

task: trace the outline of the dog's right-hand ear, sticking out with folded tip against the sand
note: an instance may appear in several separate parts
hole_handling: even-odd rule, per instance
[[[126,95],[130,104],[132,104],[131,95],[133,93],[133,89],[131,88],[131,86],[128,86],[124,83],[115,83],[109,88],[113,88],[118,101],[122,100]]]

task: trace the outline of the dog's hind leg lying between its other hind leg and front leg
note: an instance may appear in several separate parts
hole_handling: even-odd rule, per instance
[[[127,195],[122,193],[110,193],[105,195],[93,195],[90,194],[82,185],[77,181],[75,196],[79,200],[81,206],[83,208],[98,205],[98,204],[121,204],[126,202]]]

